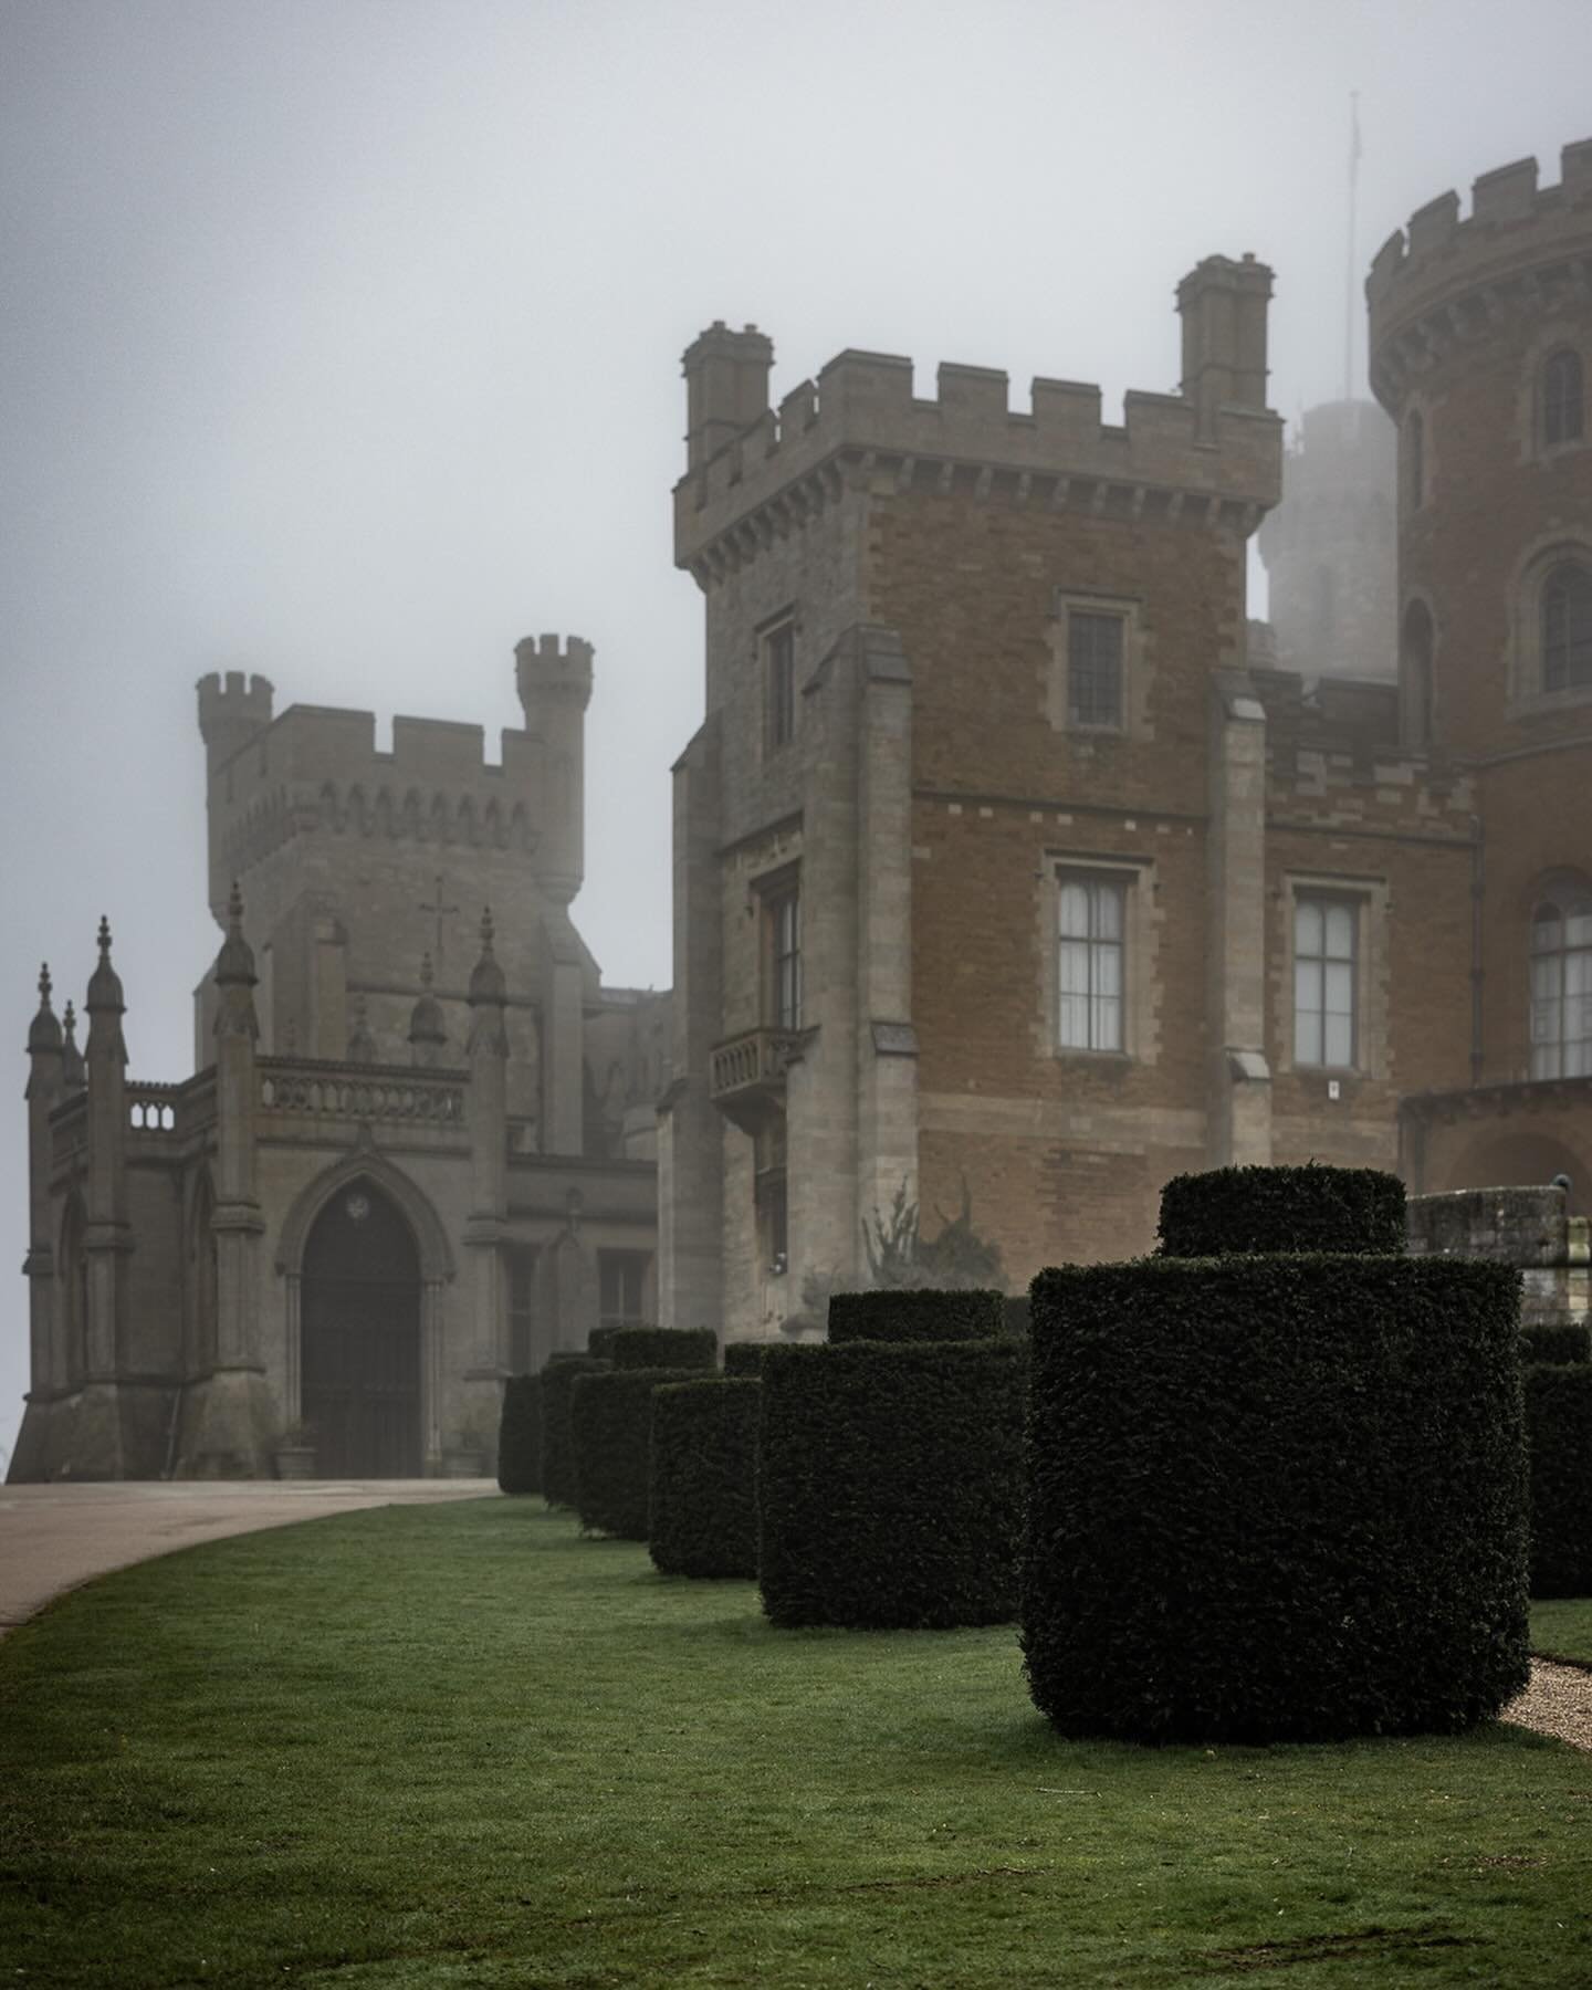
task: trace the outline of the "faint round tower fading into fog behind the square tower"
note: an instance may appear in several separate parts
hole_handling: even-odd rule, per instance
[[[1393,677],[1395,430],[1369,400],[1309,408],[1262,519],[1278,663],[1305,677]]]

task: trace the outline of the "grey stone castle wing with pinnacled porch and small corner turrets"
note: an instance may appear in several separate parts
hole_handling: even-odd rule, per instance
[[[101,925],[88,1041],[28,1035],[32,1389],[12,1479],[480,1471],[507,1371],[655,1313],[667,997],[603,989],[593,655],[515,651],[525,728],[199,685],[195,1077],[133,1081]],[[490,913],[484,915],[484,907]]]

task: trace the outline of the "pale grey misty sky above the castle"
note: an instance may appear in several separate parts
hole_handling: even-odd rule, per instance
[[[850,344],[1112,420],[1176,384],[1176,281],[1252,249],[1295,416],[1343,380],[1349,92],[1363,275],[1479,171],[1556,179],[1588,76],[1588,0],[0,0],[0,1445],[40,959],[82,1005],[105,911],[131,1075],[191,1069],[197,677],[496,736],[517,637],[589,637],[575,917],[663,987],[702,324],[768,330],[776,398]]]

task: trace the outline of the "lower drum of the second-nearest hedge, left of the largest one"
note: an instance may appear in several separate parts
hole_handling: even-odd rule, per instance
[[[1015,1616],[1025,1365],[1007,1337],[768,1349],[758,1580],[774,1624]]]

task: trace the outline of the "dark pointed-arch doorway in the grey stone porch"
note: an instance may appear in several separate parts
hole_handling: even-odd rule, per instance
[[[310,1226],[300,1331],[316,1471],[418,1479],[420,1252],[402,1210],[368,1178],[340,1188]]]

